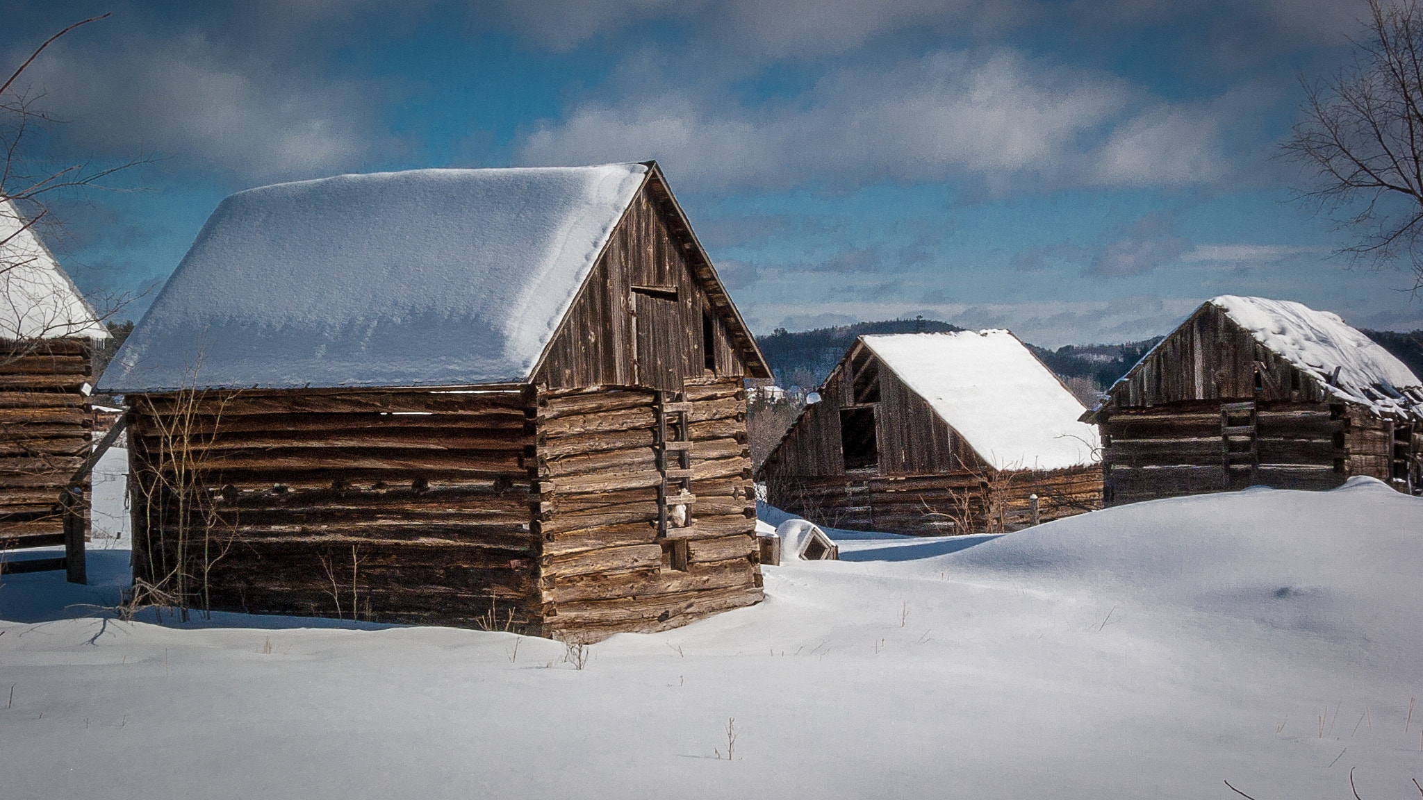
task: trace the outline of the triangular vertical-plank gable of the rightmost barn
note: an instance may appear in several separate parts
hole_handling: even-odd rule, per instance
[[[1319,383],[1205,303],[1109,391],[1109,407],[1188,400],[1322,403]]]

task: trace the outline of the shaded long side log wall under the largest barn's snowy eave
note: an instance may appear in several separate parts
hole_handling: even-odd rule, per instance
[[[195,608],[541,629],[525,391],[127,403],[135,579]]]

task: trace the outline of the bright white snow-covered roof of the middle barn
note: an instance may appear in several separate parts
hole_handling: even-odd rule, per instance
[[[996,470],[1097,463],[1081,403],[1007,330],[869,335],[861,340]]]

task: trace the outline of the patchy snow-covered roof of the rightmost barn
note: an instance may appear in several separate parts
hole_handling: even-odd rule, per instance
[[[1423,403],[1423,381],[1339,315],[1265,298],[1221,295],[1208,302],[1249,330],[1257,342],[1319,380],[1335,397],[1376,411]]]

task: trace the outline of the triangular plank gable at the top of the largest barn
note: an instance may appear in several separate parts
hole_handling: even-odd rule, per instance
[[[679,391],[684,379],[713,374],[770,370],[653,165],[534,381]]]

